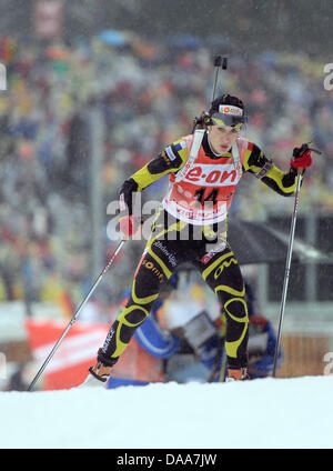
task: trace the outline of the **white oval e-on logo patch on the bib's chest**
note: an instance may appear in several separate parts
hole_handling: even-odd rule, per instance
[[[223,166],[221,170],[215,166],[195,166],[186,173],[185,181],[205,187],[228,187],[236,184],[239,179],[233,166]]]

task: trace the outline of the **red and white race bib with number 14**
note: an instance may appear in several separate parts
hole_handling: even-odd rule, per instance
[[[194,134],[184,140],[189,154]],[[171,173],[170,186],[162,206],[173,217],[195,226],[212,224],[226,218],[235,187],[242,177],[242,163],[248,141],[238,138],[231,158],[212,160],[202,146],[192,162],[180,170],[181,176]]]

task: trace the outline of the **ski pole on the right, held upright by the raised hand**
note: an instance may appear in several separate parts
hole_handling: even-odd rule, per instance
[[[307,150],[311,150],[312,152],[321,154],[321,152],[319,150],[310,148],[309,147],[310,143],[311,142],[303,144],[302,148],[304,147],[304,149],[307,149]],[[293,251],[294,237],[295,237],[296,218],[297,218],[297,210],[299,210],[299,202],[300,202],[302,172],[303,172],[302,168],[297,169],[296,193],[295,193],[294,210],[293,210],[293,214],[292,214],[292,222],[291,222],[291,230],[290,230],[290,238],[289,238],[289,245],[287,245],[285,272],[284,272],[281,307],[280,307],[279,330],[278,330],[278,339],[276,339],[275,352],[274,352],[274,363],[273,363],[273,374],[272,374],[273,378],[275,378],[275,373],[276,373],[276,363],[278,363],[279,349],[280,349],[280,342],[281,342],[282,322],[283,322],[284,310],[285,310],[285,301],[286,301],[286,293],[287,293],[289,278],[290,278],[290,267],[291,267],[292,251]]]

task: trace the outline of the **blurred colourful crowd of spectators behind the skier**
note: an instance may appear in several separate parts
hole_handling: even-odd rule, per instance
[[[7,37],[0,61],[7,67],[7,90],[0,92],[0,300],[24,299],[28,307],[56,301],[71,312],[93,281],[91,112],[103,123],[107,262],[115,247],[107,237],[107,204],[125,178],[188,134],[193,118],[208,109],[212,56],[200,44],[171,48],[138,38],[110,44],[95,37],[67,47]],[[281,169],[289,169],[292,149],[302,142],[313,141],[323,152],[306,176],[303,211],[333,208],[333,96],[324,89],[323,67],[320,59],[265,52],[231,57],[219,78],[219,92],[245,102],[245,137]],[[147,198],[160,198],[163,184],[148,189]],[[244,218],[262,219],[293,204],[252,176],[238,191],[233,211]],[[99,302],[123,291],[141,249],[133,243],[120,257],[117,279],[100,289]]]

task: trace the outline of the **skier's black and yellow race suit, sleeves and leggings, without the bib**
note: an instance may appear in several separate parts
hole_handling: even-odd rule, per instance
[[[142,191],[158,179],[178,172],[184,166],[189,149],[179,146],[180,141],[165,148],[168,151],[161,152],[123,183],[121,193],[124,194],[130,212],[133,192]],[[213,163],[218,156],[210,147],[208,133],[203,137],[202,147]],[[172,156],[172,159],[169,156]],[[225,157],[230,158],[231,153],[226,152]],[[282,196],[291,196],[295,191],[296,171],[281,171],[255,143],[252,143],[251,150],[245,151],[242,170],[254,173]],[[191,262],[215,292],[226,314],[225,351],[229,367],[246,365],[249,318],[245,287],[236,257],[228,243],[226,226],[224,223],[201,227],[202,238],[198,238],[198,233],[194,237],[194,229],[198,231],[198,227],[174,219],[160,208],[133,279],[131,297],[111,325],[99,351],[99,360],[104,364],[114,364],[122,354],[135,329],[149,315],[159,297],[161,284],[169,280],[181,263]]]

